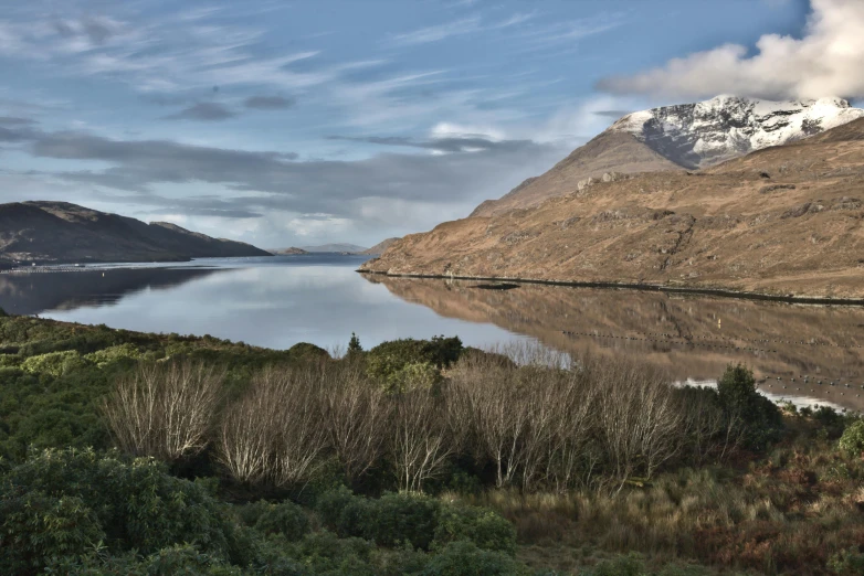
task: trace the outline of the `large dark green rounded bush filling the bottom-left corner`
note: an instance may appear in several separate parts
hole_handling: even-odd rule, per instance
[[[154,460],[49,450],[8,472],[1,490],[0,547],[10,553],[0,561],[3,574],[21,573],[21,562],[33,568],[34,558],[80,556],[99,542],[115,553],[149,554],[178,542],[218,556],[226,550],[218,502]]]

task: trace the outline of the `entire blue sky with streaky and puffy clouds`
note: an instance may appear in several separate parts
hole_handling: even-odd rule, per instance
[[[371,246],[629,111],[862,98],[862,33],[860,0],[0,0],[0,202]]]

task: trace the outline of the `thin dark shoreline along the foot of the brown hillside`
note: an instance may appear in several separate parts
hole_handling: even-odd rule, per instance
[[[729,288],[691,288],[662,286],[656,284],[639,282],[601,282],[601,281],[576,281],[576,280],[549,280],[544,278],[516,278],[508,276],[450,276],[442,274],[391,274],[378,270],[363,270],[358,268],[358,274],[387,276],[389,278],[425,278],[441,280],[471,280],[471,281],[493,281],[493,282],[516,282],[534,284],[545,286],[562,286],[569,288],[614,288],[623,290],[670,292],[684,295],[717,296],[720,298],[738,300],[761,300],[786,303],[815,305],[815,306],[864,306],[863,298],[825,298],[815,296],[778,296],[763,292],[748,292],[742,290],[733,290]]]

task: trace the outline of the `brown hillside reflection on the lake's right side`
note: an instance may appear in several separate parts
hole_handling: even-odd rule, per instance
[[[565,352],[633,358],[682,382],[716,378],[730,362],[744,362],[763,378],[762,390],[777,397],[810,396],[864,409],[862,307],[542,285],[492,290],[471,281],[367,279],[447,318],[491,322]]]

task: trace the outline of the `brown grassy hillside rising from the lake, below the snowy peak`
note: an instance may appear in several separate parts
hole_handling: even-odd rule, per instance
[[[447,222],[366,271],[864,298],[864,119],[697,172]]]

